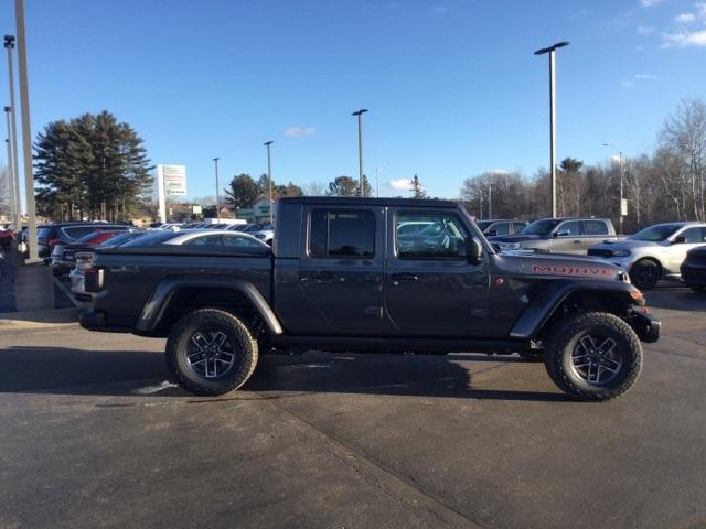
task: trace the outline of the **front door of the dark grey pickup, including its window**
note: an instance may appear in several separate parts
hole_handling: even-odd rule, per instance
[[[408,222],[428,227],[407,237]],[[389,208],[385,307],[394,333],[405,336],[469,336],[488,324],[489,261],[472,264],[464,239],[470,226],[454,213]]]

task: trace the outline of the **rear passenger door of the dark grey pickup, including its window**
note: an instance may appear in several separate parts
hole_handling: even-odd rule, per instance
[[[383,208],[311,206],[304,215],[299,284],[309,306],[302,305],[308,317],[299,326],[317,334],[377,332],[383,322]]]

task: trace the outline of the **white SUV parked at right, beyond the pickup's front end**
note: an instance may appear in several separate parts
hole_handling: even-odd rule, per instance
[[[606,241],[588,250],[630,273],[639,289],[653,289],[661,279],[678,280],[680,267],[692,248],[706,244],[706,223],[664,223],[627,239]]]

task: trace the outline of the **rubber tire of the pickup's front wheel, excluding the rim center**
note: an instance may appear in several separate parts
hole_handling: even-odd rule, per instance
[[[611,338],[621,355],[621,367],[606,384],[589,382],[575,368],[573,354],[585,336]],[[634,331],[620,317],[603,312],[580,313],[552,333],[545,343],[544,364],[549,378],[567,395],[578,400],[605,401],[621,396],[638,380],[642,346]]]

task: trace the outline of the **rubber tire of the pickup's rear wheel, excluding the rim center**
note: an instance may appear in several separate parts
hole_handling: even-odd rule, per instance
[[[196,333],[221,332],[232,344],[235,359],[222,376],[206,378],[190,367],[190,341]],[[182,316],[167,338],[167,365],[176,382],[194,395],[224,395],[243,386],[255,370],[257,341],[246,325],[229,312],[199,309]]]

